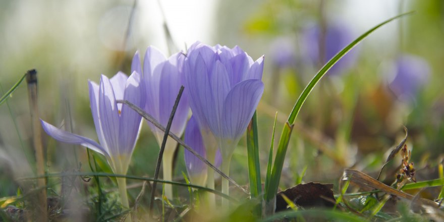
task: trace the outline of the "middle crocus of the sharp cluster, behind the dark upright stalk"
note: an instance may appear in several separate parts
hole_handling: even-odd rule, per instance
[[[176,53],[167,59],[153,46],[146,49],[143,69],[138,52],[136,52],[133,58],[131,69],[132,71],[143,73],[146,86],[144,110],[162,126],[167,126],[180,87],[184,85],[182,73],[184,59],[185,55],[183,53]],[[188,99],[184,93],[176,109],[170,129],[175,135],[181,136],[184,132],[189,109]],[[160,146],[163,139],[163,131],[157,129],[150,122],[148,122],[148,125]],[[176,146],[177,142],[168,138],[162,157],[163,180],[173,180],[173,159]],[[165,196],[173,199],[171,184],[165,184]]]

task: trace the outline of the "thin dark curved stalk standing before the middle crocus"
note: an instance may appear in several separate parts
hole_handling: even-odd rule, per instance
[[[173,123],[173,118],[174,118],[174,115],[176,114],[176,109],[177,109],[177,106],[179,105],[179,101],[180,101],[180,98],[182,97],[183,92],[184,92],[184,86],[181,86],[181,88],[179,90],[179,94],[176,97],[176,101],[174,103],[173,110],[171,111],[170,119],[168,120],[168,123],[167,123],[167,128],[165,129],[165,133],[163,135],[162,145],[160,146],[159,156],[157,157],[157,165],[156,165],[156,170],[154,172],[154,179],[157,179],[159,177],[159,170],[160,170],[160,164],[162,162],[163,151],[165,150],[165,144],[167,143],[168,134],[170,132],[171,124]],[[149,203],[149,215],[151,217],[153,216],[153,207],[154,207],[153,202],[154,202],[154,193],[156,190],[156,185],[157,185],[157,182],[154,181],[153,186],[152,186],[152,190],[151,190],[151,200]]]

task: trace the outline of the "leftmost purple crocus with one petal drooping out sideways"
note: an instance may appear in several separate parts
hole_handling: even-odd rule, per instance
[[[125,99],[138,106],[144,105],[141,76],[133,72],[128,78],[119,72],[111,79],[102,75],[99,85],[92,81],[88,83],[91,113],[100,144],[41,120],[43,130],[56,140],[86,146],[104,155],[115,174],[125,175],[139,134],[141,117],[129,106],[118,104],[116,100]],[[117,178],[117,182],[122,204],[128,208],[125,178]]]

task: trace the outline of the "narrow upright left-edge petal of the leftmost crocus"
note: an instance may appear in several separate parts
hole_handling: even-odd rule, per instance
[[[98,107],[99,86],[95,82],[88,81],[88,88],[89,88],[89,102],[91,105],[92,119],[94,121],[97,137],[103,148],[105,150],[108,150],[106,140],[104,139],[102,124],[100,123],[100,116],[99,116],[99,107]]]

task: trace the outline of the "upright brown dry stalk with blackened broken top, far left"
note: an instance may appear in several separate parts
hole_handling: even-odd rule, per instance
[[[26,82],[28,83],[28,100],[29,109],[31,113],[31,126],[33,134],[33,145],[35,149],[36,169],[37,175],[44,175],[45,173],[45,160],[43,154],[43,144],[41,141],[41,126],[40,116],[38,113],[38,96],[37,96],[37,71],[35,69],[29,70],[26,73]],[[46,179],[41,178],[37,180],[38,187],[46,187]],[[38,210],[39,218],[42,221],[47,220],[47,200],[46,189],[41,189],[38,194],[39,205],[36,207]]]

